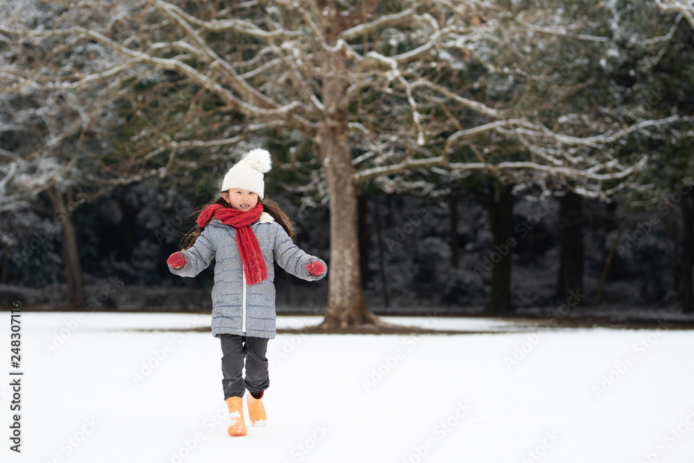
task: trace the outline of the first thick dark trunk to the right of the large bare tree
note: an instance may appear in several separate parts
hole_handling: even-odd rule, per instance
[[[491,294],[485,312],[508,314],[511,309],[511,247],[507,240],[513,231],[513,185],[502,187],[498,198],[486,204],[494,244],[490,260]]]

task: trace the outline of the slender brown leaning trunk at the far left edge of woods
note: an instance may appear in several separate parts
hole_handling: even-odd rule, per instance
[[[85,303],[84,279],[82,275],[82,265],[80,264],[79,248],[77,245],[77,235],[75,226],[72,222],[72,210],[68,207],[70,203],[71,190],[67,190],[67,203],[57,186],[46,190],[49,201],[56,211],[56,219],[60,220],[62,229],[62,261],[65,270],[65,281],[67,282],[67,293],[69,303],[74,308],[82,308]]]

